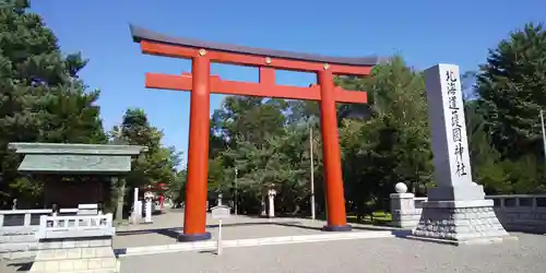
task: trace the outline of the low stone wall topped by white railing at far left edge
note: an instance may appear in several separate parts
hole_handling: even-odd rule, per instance
[[[78,209],[62,209],[61,215],[76,214]],[[19,259],[36,254],[41,215],[51,213],[50,209],[0,211],[0,258]]]

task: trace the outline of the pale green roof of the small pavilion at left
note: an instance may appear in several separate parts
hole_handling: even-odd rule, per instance
[[[10,150],[24,154],[22,173],[116,175],[131,171],[131,157],[147,151],[135,145],[62,143],[10,143]]]

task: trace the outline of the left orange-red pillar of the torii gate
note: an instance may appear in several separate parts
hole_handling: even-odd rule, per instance
[[[206,240],[206,187],[209,173],[210,132],[210,70],[211,62],[201,49],[192,58],[192,90],[190,100],[190,135],[188,150],[188,185],[183,234],[180,241]]]

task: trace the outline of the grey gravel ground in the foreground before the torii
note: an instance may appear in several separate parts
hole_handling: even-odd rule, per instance
[[[452,247],[410,239],[363,239],[128,257],[121,273],[179,272],[546,272],[546,236],[514,234],[519,241]]]

